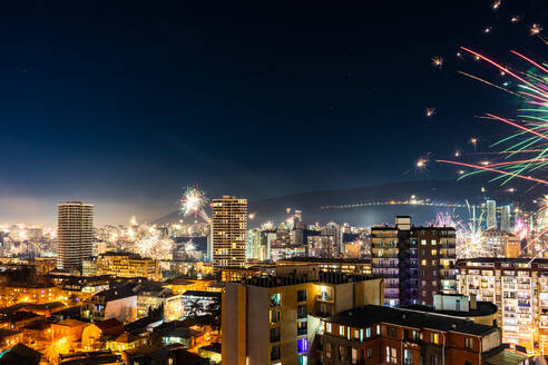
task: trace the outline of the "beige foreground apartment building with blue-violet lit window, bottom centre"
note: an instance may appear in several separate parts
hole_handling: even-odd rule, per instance
[[[300,274],[226,284],[223,364],[307,364],[309,354],[319,345],[315,336],[322,318],[383,303],[382,279],[341,273],[305,278]]]

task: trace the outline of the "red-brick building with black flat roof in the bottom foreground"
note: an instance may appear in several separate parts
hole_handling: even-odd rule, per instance
[[[431,313],[368,305],[325,319],[320,362],[481,365],[500,352],[499,329]]]

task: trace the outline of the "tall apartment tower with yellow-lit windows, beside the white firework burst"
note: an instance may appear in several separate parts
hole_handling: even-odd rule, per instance
[[[213,269],[238,268],[245,265],[247,234],[247,199],[223,196],[213,200]]]

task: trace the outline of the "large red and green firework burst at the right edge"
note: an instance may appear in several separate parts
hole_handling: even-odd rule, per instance
[[[464,162],[446,159],[439,159],[437,161],[471,169],[467,174],[461,174],[459,179],[489,171],[496,174],[496,177],[491,180],[498,181],[501,185],[507,184],[513,178],[548,185],[546,177],[548,168],[548,65],[537,62],[527,56],[511,50],[512,55],[526,61],[531,68],[529,71],[519,71],[503,67],[469,48],[461,47],[461,49],[474,58],[492,65],[501,73],[515,78],[519,81],[519,86],[517,90],[512,91],[467,72],[460,72],[461,75],[517,96],[525,100],[526,107],[518,110],[517,118],[515,119],[505,118],[495,114],[486,114],[482,117],[487,120],[506,124],[515,129],[512,135],[491,145],[493,148],[502,147],[497,151],[501,158],[500,161]],[[506,82],[506,85],[508,83]]]

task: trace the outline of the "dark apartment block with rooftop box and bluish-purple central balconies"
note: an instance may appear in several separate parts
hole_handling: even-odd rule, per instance
[[[371,272],[384,278],[384,304],[432,305],[436,293],[457,293],[453,227],[413,227],[395,217],[393,227],[371,228]]]

